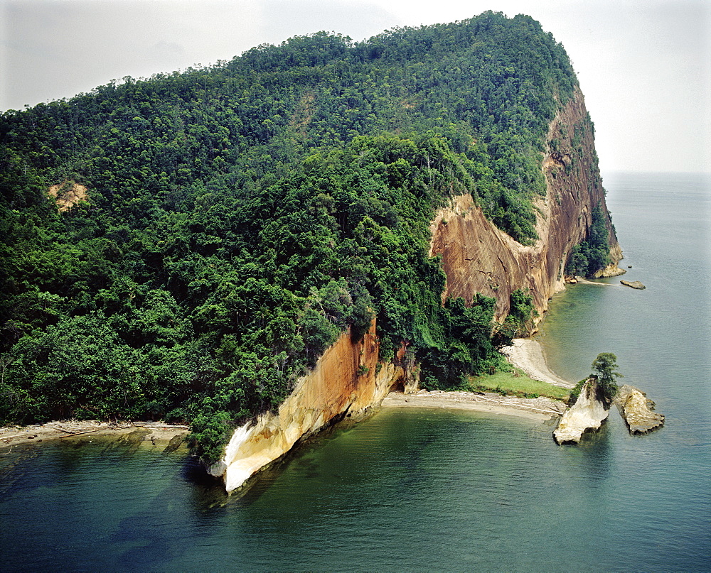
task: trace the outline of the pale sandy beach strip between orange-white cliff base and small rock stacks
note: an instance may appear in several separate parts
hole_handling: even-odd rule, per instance
[[[445,392],[420,390],[412,394],[391,392],[381,408],[446,408],[474,410],[490,414],[513,415],[532,420],[549,420],[560,416],[566,405],[551,398],[515,398],[491,392]]]

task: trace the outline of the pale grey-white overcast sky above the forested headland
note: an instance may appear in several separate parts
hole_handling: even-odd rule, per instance
[[[711,172],[708,0],[0,0],[0,111],[296,35],[363,40],[486,10],[533,16],[565,46],[603,174]]]

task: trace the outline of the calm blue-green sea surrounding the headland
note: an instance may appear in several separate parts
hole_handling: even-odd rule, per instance
[[[665,426],[383,409],[225,496],[184,449],[99,437],[0,446],[0,571],[711,570],[711,187],[608,173],[620,278],[555,295],[538,340],[578,381],[600,352]]]

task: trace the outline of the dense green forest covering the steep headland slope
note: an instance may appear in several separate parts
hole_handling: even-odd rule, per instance
[[[0,422],[164,418],[215,459],[378,317],[422,383],[491,371],[517,293],[442,305],[428,225],[471,192],[522,244],[577,84],[528,16],[316,33],[0,119]]]

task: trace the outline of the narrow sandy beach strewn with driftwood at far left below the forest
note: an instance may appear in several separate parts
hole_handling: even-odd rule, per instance
[[[0,427],[0,455],[22,444],[64,440],[71,437],[131,436],[132,442],[150,442],[177,449],[188,435],[189,427],[164,422],[99,422],[70,420],[41,425]]]

